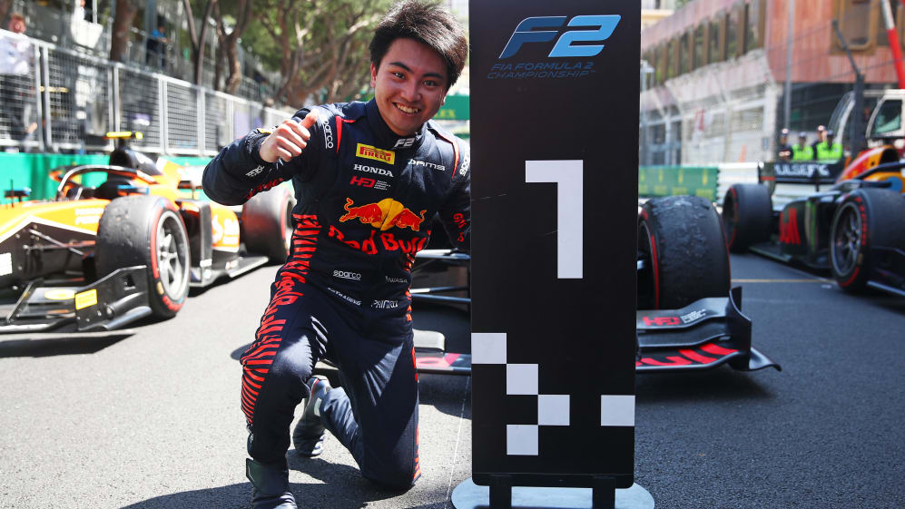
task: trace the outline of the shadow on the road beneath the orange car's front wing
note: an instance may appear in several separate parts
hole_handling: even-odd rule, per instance
[[[114,343],[133,336],[132,330],[120,330],[97,335],[72,333],[40,334],[30,338],[13,338],[0,341],[0,358],[51,357],[93,354]]]

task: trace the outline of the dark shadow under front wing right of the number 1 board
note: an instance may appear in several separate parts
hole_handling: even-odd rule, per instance
[[[729,401],[771,399],[775,395],[756,380],[760,376],[775,375],[771,370],[751,374],[717,367],[693,373],[644,374],[635,377],[638,404],[670,401]]]

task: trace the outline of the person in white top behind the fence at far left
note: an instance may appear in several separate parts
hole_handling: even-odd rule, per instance
[[[13,13],[6,29],[13,34],[25,34],[25,16]],[[34,106],[34,50],[25,37],[0,35],[0,96],[3,106],[0,115],[14,140],[23,142],[37,130],[32,119]]]

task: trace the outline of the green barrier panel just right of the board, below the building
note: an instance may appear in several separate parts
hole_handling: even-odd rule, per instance
[[[642,166],[638,168],[638,196],[692,194],[716,200],[715,166]]]

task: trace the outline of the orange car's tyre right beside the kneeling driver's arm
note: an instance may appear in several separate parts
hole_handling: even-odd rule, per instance
[[[292,243],[292,208],[295,197],[286,186],[259,192],[242,206],[242,240],[249,252],[272,262],[289,258]]]

